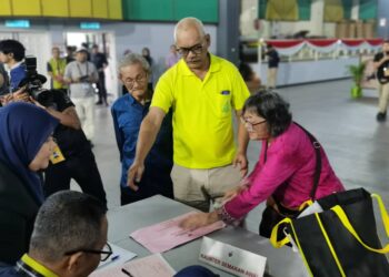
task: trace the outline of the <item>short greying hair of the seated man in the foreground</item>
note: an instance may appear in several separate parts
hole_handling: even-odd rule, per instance
[[[56,263],[67,252],[96,248],[106,213],[102,203],[83,193],[63,191],[51,195],[38,212],[30,253]]]

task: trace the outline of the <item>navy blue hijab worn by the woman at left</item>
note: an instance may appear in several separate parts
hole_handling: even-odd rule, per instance
[[[42,184],[28,166],[57,125],[57,119],[33,104],[0,107],[0,161],[23,181],[38,203],[44,199]]]

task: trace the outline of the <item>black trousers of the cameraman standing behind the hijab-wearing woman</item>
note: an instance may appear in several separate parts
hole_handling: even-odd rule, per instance
[[[97,197],[107,205],[106,192],[96,164],[94,155],[86,150],[78,155],[66,157],[58,164],[50,164],[44,171],[44,194],[70,189],[70,181],[74,179],[82,192]]]

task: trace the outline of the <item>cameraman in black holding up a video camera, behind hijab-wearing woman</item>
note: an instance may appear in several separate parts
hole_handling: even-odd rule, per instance
[[[27,57],[26,66],[27,78],[21,81],[22,88],[9,94],[4,104],[16,101],[32,102],[60,122],[53,133],[58,147],[44,171],[46,196],[69,189],[73,178],[83,193],[93,195],[107,205],[94,155],[81,129],[74,104],[62,90],[42,89],[46,78],[37,73],[36,58]]]

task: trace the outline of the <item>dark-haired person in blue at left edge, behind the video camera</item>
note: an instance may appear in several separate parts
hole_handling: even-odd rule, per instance
[[[20,82],[26,78],[24,55],[26,49],[19,41],[0,41],[0,62],[7,64],[10,70],[10,92],[17,91]]]

